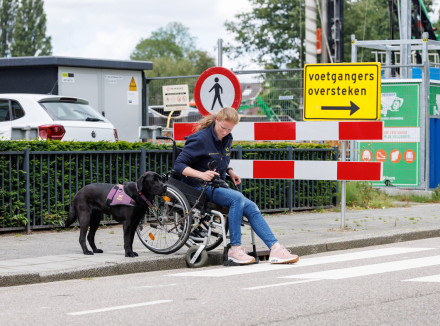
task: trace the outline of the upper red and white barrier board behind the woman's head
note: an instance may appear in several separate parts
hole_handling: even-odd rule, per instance
[[[185,140],[197,123],[175,123],[174,139]],[[234,141],[382,140],[382,121],[240,122]]]

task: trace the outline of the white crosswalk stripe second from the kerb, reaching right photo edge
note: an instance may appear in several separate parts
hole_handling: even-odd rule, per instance
[[[387,263],[332,269],[322,272],[283,276],[280,278],[340,280],[351,277],[397,272],[406,269],[440,265],[440,256],[406,259]]]

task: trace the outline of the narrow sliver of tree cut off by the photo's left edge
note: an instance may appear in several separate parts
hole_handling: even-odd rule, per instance
[[[0,0],[0,57],[10,55],[15,24],[16,0]]]

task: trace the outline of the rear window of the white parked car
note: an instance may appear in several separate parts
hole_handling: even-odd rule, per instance
[[[54,120],[104,121],[92,107],[75,102],[41,102],[43,108]]]

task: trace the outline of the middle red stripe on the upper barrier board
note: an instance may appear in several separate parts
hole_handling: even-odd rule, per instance
[[[295,122],[255,122],[255,140],[296,140]]]

